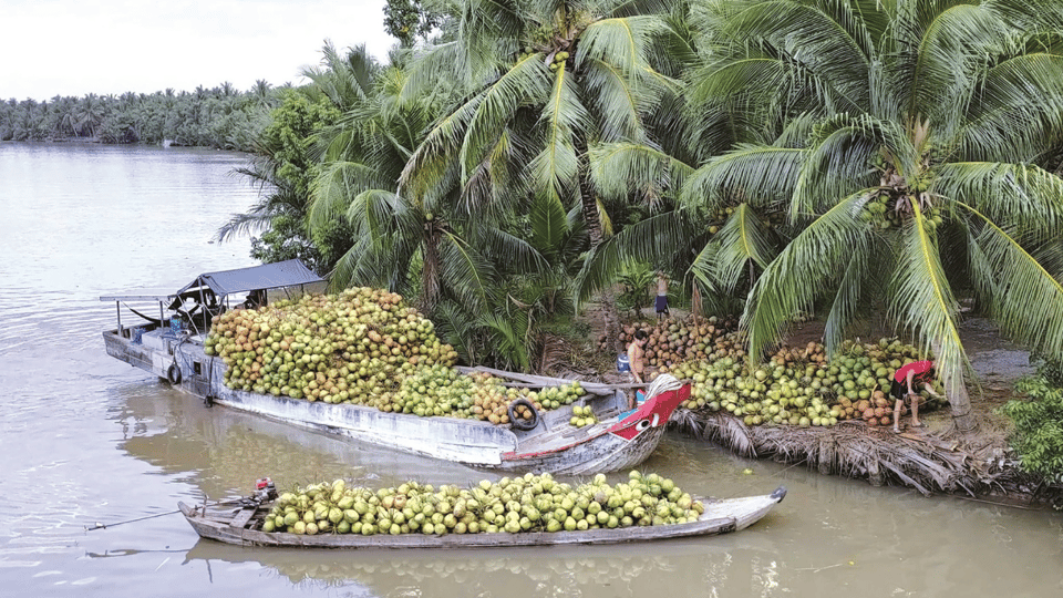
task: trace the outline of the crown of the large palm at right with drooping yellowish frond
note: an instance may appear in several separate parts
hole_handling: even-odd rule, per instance
[[[814,301],[834,347],[863,306],[932,350],[973,431],[959,298],[1063,357],[1063,4],[1049,0],[771,0],[735,14],[693,78],[706,110],[763,122],[687,179],[688,202],[782,203],[799,234],[767,265],[743,326],[751,354]],[[724,101],[730,99],[731,101]],[[737,101],[734,101],[737,99]]]

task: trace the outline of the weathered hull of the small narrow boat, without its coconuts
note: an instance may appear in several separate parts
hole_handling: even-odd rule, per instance
[[[713,536],[739,532],[761,520],[786,496],[780,486],[772,494],[740,498],[699,498],[705,512],[696,522],[618,527],[585,532],[526,532],[517,534],[399,534],[362,536],[359,534],[319,534],[313,536],[262,532],[262,520],[271,503],[249,504],[242,508],[219,511],[178,503],[180,513],[203,538],[238,546],[287,548],[497,548],[509,546],[554,546],[569,544],[621,544],[690,536]]]

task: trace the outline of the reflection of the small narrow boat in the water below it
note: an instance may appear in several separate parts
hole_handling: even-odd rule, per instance
[[[247,550],[202,540],[186,564],[240,563]],[[649,545],[486,550],[271,550],[256,563],[298,588],[358,587],[373,596],[687,596],[771,591],[777,575],[768,548],[699,540]],[[701,591],[698,591],[700,589]]]

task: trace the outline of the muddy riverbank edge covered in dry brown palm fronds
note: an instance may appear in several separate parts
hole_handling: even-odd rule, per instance
[[[675,312],[673,318],[685,315]],[[596,328],[599,311],[588,309],[585,321]],[[921,414],[925,427],[911,427],[904,416],[899,434],[891,426],[869,426],[859,420],[829,427],[746,425],[726,411],[708,409],[678,410],[672,425],[736,455],[866,480],[874,486],[904,486],[928,496],[948,494],[1010,505],[1063,506],[1063,487],[1019,467],[1008,443],[1011,423],[999,412],[1001,405],[1018,398],[1014,383],[1034,372],[1029,351],[1008,342],[991,321],[981,318],[964,320],[961,337],[974,373],[970,393],[979,423],[977,434],[970,437],[957,434],[947,408]],[[822,338],[822,322],[813,320],[796,327],[786,344],[801,347]],[[620,381],[611,370],[612,360],[605,360],[600,352],[588,355],[588,362],[595,363],[599,379]]]

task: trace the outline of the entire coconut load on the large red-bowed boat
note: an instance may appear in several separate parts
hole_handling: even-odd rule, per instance
[[[584,394],[578,382],[535,392],[458,373],[457,352],[440,341],[432,321],[381,289],[228,311],[214,319],[204,351],[223,358],[231,389],[422,416],[505,424],[516,399],[550,410]],[[532,416],[525,405],[515,414]]]

